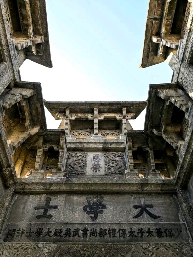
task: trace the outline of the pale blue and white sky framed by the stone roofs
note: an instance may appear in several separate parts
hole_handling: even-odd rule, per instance
[[[149,84],[171,81],[166,63],[138,68],[148,0],[46,0],[46,7],[53,68],[27,60],[20,71],[42,84],[47,101],[144,101]],[[47,111],[46,118],[48,128],[58,126]]]

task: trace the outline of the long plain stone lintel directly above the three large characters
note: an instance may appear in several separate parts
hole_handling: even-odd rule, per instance
[[[16,193],[53,192],[162,192],[176,191],[173,179],[163,178],[17,178]]]

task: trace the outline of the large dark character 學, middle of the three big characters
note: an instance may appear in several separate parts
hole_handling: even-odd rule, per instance
[[[106,205],[102,204],[104,200],[103,196],[91,196],[87,197],[87,203],[88,205],[84,205],[83,210],[84,212],[87,211],[87,214],[94,214],[94,216],[90,216],[92,221],[95,221],[98,217],[98,214],[103,214],[103,210],[101,209],[106,209]]]

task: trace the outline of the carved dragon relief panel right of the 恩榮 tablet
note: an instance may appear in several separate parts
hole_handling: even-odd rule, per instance
[[[125,156],[122,152],[105,152],[105,175],[123,175],[125,171]]]

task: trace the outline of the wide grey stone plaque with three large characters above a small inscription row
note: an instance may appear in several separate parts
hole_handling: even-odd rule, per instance
[[[168,208],[169,207],[169,208]],[[1,242],[185,243],[176,197],[142,194],[15,195]]]

